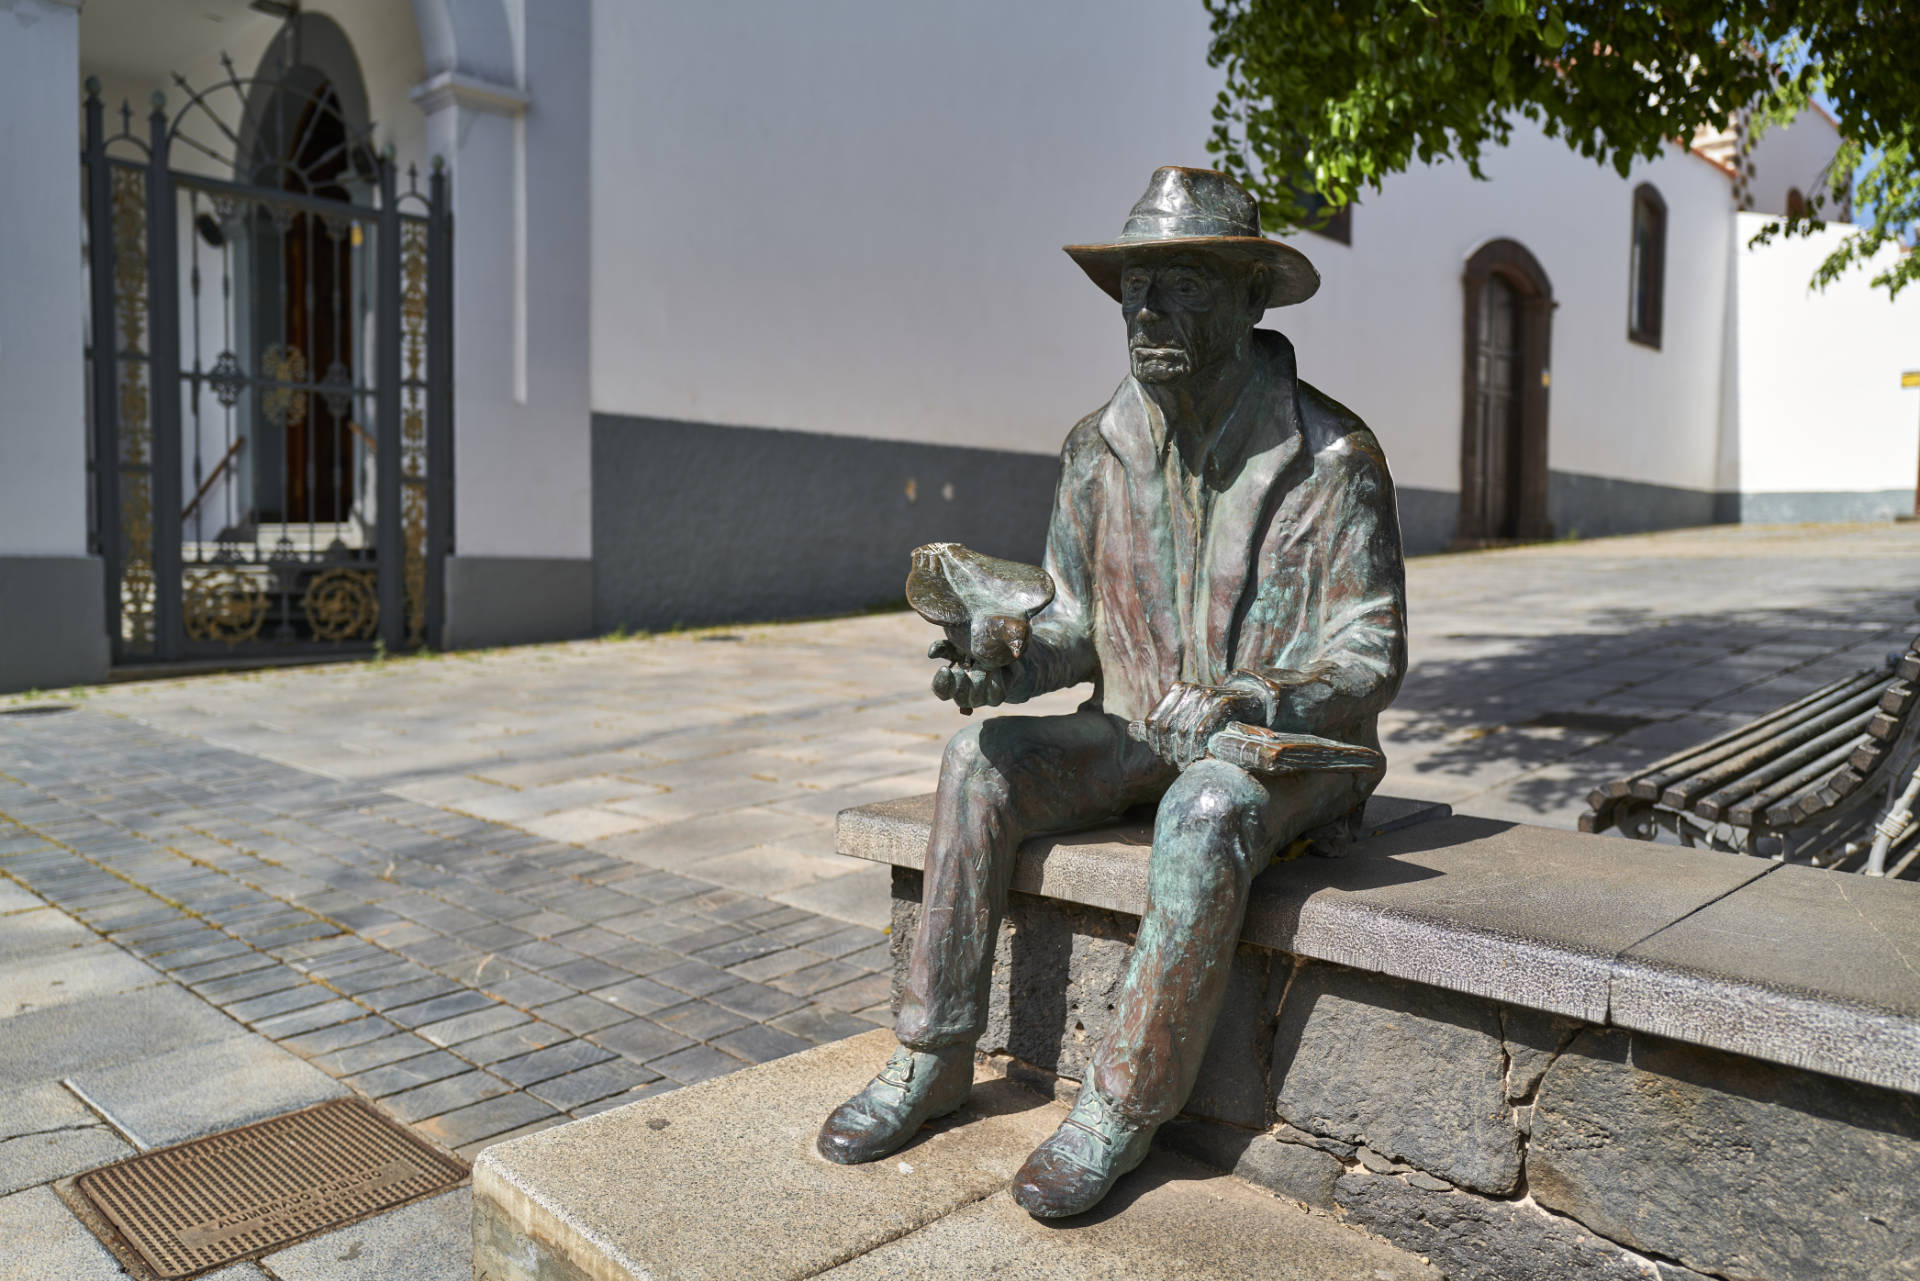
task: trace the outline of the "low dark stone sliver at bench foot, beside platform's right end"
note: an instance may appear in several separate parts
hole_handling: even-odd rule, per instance
[[[1350,1223],[1425,1256],[1448,1281],[1653,1281],[1649,1260],[1526,1202],[1363,1172],[1340,1175],[1334,1198]]]

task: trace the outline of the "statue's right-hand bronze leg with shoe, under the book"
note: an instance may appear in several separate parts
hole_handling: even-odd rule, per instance
[[[1066,1124],[1014,1177],[1021,1208],[1081,1214],[1146,1158],[1154,1131],[1192,1093],[1254,876],[1284,843],[1361,797],[1354,774],[1260,780],[1223,761],[1198,761],[1167,787],[1114,1031]]]

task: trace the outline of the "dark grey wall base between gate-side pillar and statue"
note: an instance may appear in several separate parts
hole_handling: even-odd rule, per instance
[[[593,415],[593,626],[664,630],[899,601],[908,553],[1039,561],[1060,461]]]

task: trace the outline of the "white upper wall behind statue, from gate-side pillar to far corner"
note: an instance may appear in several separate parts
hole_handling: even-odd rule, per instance
[[[1052,453],[1125,373],[1060,246],[1117,232],[1156,165],[1208,163],[1206,38],[1198,6],[1144,0],[597,0],[593,407]],[[1390,179],[1354,248],[1298,236],[1325,284],[1267,325],[1302,375],[1402,486],[1457,490],[1461,269],[1507,236],[1559,303],[1549,465],[1716,488],[1726,173],[1672,150],[1620,181],[1526,123],[1486,169]],[[1644,179],[1668,204],[1659,351],[1626,340]]]

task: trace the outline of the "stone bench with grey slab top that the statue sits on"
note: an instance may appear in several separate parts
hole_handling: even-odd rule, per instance
[[[839,820],[895,868],[897,985],[931,801]],[[1455,1279],[1920,1277],[1920,885],[1367,818],[1348,857],[1256,880],[1167,1145]],[[1029,841],[983,1052],[1073,1087],[1148,851],[1144,820]]]

